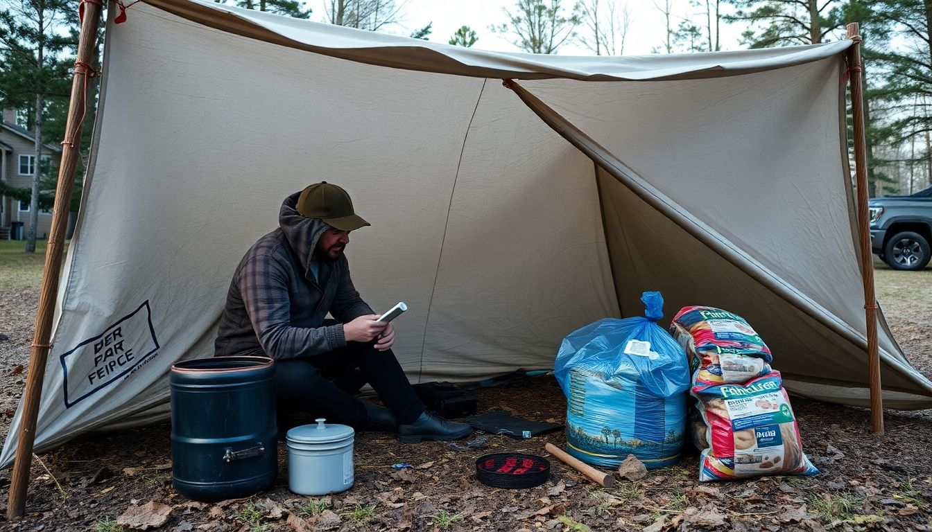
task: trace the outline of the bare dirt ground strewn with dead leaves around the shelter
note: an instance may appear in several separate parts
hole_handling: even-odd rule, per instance
[[[877,265],[878,297],[907,356],[932,370],[932,269],[895,272]],[[0,430],[6,431],[28,368],[36,306],[33,288],[0,289]],[[480,411],[504,409],[562,422],[566,402],[552,376],[483,389]],[[493,436],[486,448],[459,452],[444,443],[397,443],[391,434],[360,433],[356,484],[328,498],[287,489],[286,450],[279,449],[274,488],[254,498],[201,504],[171,488],[167,426],[85,436],[34,459],[27,515],[0,529],[123,530],[116,519],[150,501],[169,512],[160,530],[932,530],[932,411],[887,411],[884,436],[869,431],[860,408],[793,399],[815,477],[769,477],[698,483],[695,451],[678,466],[643,480],[601,488],[551,458],[552,476],[527,490],[480,484],[474,461],[497,450],[545,455],[563,446],[562,431],[517,441]],[[413,469],[394,471],[408,462]],[[0,471],[6,515],[9,471]]]

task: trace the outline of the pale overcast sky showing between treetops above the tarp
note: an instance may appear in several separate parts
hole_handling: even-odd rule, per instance
[[[610,0],[603,0],[603,2],[608,1]],[[624,55],[647,54],[651,53],[652,48],[661,48],[665,39],[664,16],[654,7],[653,2],[651,0],[615,1],[619,6],[627,4],[631,13],[631,25],[624,43]],[[564,0],[563,3],[572,6],[572,1]],[[313,8],[310,20],[324,20],[323,5],[323,0],[308,1],[308,6]],[[408,35],[432,22],[432,33],[428,39],[446,43],[460,26],[467,25],[479,36],[474,48],[520,51],[508,40],[508,35],[494,34],[489,30],[490,24],[499,25],[507,21],[502,7],[512,9],[514,0],[407,0],[402,9],[404,22],[386,28],[386,33]],[[704,15],[699,15],[700,9],[690,7],[689,0],[673,0],[673,12],[674,26],[677,26],[679,20],[690,16],[691,13],[697,22],[705,18]],[[741,31],[741,28],[722,22],[721,48],[741,48],[738,45]],[[557,51],[561,55],[593,55],[582,45],[569,42]]]

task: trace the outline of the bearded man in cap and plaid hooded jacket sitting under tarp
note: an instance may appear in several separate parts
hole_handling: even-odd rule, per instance
[[[240,261],[226,295],[216,356],[275,359],[281,410],[299,410],[359,430],[397,430],[402,442],[457,440],[472,431],[424,409],[391,352],[391,323],[349,279],[349,232],[369,225],[336,184],[285,198],[279,228]],[[336,318],[324,320],[327,312]],[[388,409],[354,398],[368,383]],[[282,428],[286,429],[286,428]]]

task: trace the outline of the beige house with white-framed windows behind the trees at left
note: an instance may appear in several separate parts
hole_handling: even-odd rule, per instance
[[[44,144],[42,153],[43,158],[51,159],[51,168],[57,172],[62,160],[62,147]],[[14,109],[4,109],[3,121],[0,122],[0,181],[18,188],[32,188],[34,165],[33,132],[17,125]],[[10,238],[10,229],[16,222],[22,223],[22,238],[26,238],[29,207],[28,201],[21,202],[17,198],[0,194],[0,239]],[[40,208],[35,236],[40,239],[48,238],[51,224],[51,209]]]

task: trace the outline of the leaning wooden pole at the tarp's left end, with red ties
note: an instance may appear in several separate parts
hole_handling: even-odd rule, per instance
[[[71,85],[68,122],[65,125],[62,142],[62,163],[59,168],[58,185],[55,188],[55,206],[52,211],[52,226],[48,232],[46,263],[42,270],[42,289],[39,292],[39,307],[35,316],[29,376],[23,392],[16,461],[13,462],[13,476],[9,484],[7,519],[10,520],[21,517],[26,508],[26,488],[29,484],[29,469],[33,462],[35,423],[39,412],[39,399],[42,396],[42,382],[46,374],[46,360],[48,351],[51,349],[48,341],[51,337],[55,300],[58,299],[59,273],[62,269],[62,251],[65,230],[68,227],[68,212],[71,210],[71,191],[75,181],[81,123],[84,121],[88,105],[89,77],[96,75],[90,68],[89,61],[97,44],[98,20],[102,10],[101,0],[82,0],[79,9],[83,11],[83,14],[81,33],[77,42],[75,77]]]

